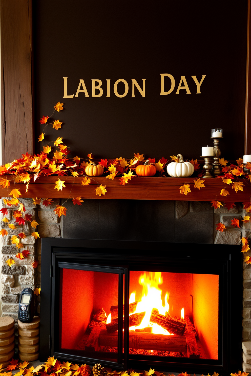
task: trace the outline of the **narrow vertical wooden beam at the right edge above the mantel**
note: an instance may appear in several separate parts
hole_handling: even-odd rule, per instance
[[[251,153],[251,17],[248,0],[248,33],[246,48],[246,108],[245,108],[245,155]]]

